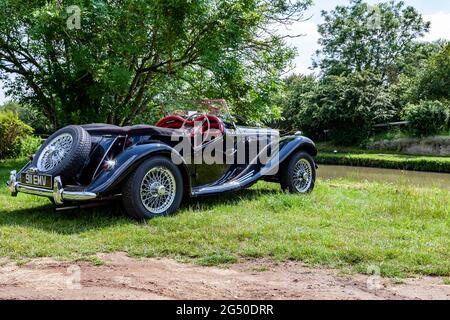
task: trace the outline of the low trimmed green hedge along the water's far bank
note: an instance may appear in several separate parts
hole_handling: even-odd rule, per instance
[[[318,164],[450,173],[450,157],[319,153]]]

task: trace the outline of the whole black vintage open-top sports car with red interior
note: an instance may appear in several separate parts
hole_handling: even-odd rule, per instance
[[[90,124],[50,136],[8,185],[57,206],[122,196],[127,213],[175,212],[183,196],[247,188],[258,180],[292,193],[314,188],[317,150],[300,133],[236,125],[223,100],[196,102],[207,111],[177,111],[155,126]]]

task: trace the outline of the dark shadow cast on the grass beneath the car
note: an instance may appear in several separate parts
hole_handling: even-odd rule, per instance
[[[185,198],[175,216],[183,214],[183,209],[212,210],[217,206],[239,205],[241,201],[256,200],[263,195],[276,193],[275,189],[245,189],[219,196]],[[110,203],[96,208],[56,211],[54,206],[49,204],[0,214],[0,227],[29,227],[66,235],[140,223],[142,221],[133,220],[126,215],[120,199],[112,200]]]

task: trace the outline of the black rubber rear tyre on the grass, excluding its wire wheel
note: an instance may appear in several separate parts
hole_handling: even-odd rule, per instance
[[[163,212],[152,212],[146,208],[141,197],[142,182],[150,170],[158,167],[168,169],[175,179],[175,197],[168,203],[170,206]],[[169,215],[177,211],[183,198],[183,177],[180,169],[168,158],[163,156],[152,157],[143,162],[133,172],[122,187],[122,201],[127,214],[136,219],[154,218]]]

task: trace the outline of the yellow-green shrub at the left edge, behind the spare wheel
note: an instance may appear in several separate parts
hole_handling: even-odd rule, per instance
[[[0,159],[17,157],[33,129],[12,112],[0,112]]]

